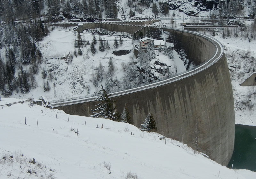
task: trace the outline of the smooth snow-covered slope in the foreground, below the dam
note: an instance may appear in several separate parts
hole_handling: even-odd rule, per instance
[[[71,116],[30,102],[5,105],[15,101],[20,99],[0,102],[1,179],[217,179],[219,172],[220,178],[251,179],[256,175],[221,166],[178,141],[167,138],[165,144],[161,135],[127,123]]]

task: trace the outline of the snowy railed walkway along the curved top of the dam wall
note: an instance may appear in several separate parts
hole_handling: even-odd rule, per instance
[[[150,26],[150,27],[156,27],[156,26]],[[162,27],[162,28],[174,29],[174,28],[170,28],[170,27]],[[134,93],[134,92],[145,90],[145,89],[156,88],[157,86],[161,86],[161,85],[164,85],[164,84],[167,84],[167,83],[178,81],[178,80],[183,79],[183,78],[188,77],[188,76],[192,76],[192,75],[194,75],[196,73],[199,73],[199,72],[203,71],[204,69],[208,68],[209,66],[212,66],[223,55],[223,47],[222,47],[221,43],[218,40],[212,38],[211,36],[209,36],[209,35],[202,35],[202,34],[199,34],[199,33],[196,33],[196,32],[191,32],[191,31],[181,30],[181,29],[176,29],[176,28],[174,30],[178,30],[178,31],[181,31],[181,32],[188,32],[188,33],[195,34],[195,35],[198,35],[200,37],[203,37],[203,38],[207,39],[208,41],[210,41],[211,43],[213,43],[215,45],[215,47],[216,47],[215,54],[209,60],[207,60],[206,62],[204,62],[204,63],[202,63],[202,64],[200,64],[198,66],[196,66],[194,69],[186,70],[184,72],[180,72],[178,74],[175,74],[175,76],[170,77],[169,79],[166,79],[166,80],[163,80],[163,81],[160,81],[160,82],[151,82],[150,84],[141,85],[139,87],[132,88],[132,89],[127,89],[127,90],[115,90],[115,91],[112,91],[111,92],[112,93],[111,97],[120,96],[120,95],[124,95],[124,94],[128,94],[128,93]],[[220,55],[218,57],[216,57],[216,59],[213,60],[213,58],[215,58],[215,56],[218,53],[218,47],[217,47],[216,43],[220,46],[221,52],[220,52]],[[182,75],[182,74],[185,74],[185,73],[189,73],[189,74]],[[74,101],[74,102],[72,102],[72,100],[84,99],[84,102],[85,101],[92,101],[93,97],[96,97],[98,95],[99,94],[86,95],[86,96],[80,96],[80,97],[72,97],[72,98],[66,98],[66,99],[53,100],[53,101],[49,101],[49,102],[52,104],[52,103],[61,103],[61,102],[70,101],[70,104],[76,104],[76,103],[80,103],[81,100]],[[54,104],[52,104],[52,105],[54,106]],[[56,104],[56,106],[61,106],[61,105],[64,105],[64,104]]]

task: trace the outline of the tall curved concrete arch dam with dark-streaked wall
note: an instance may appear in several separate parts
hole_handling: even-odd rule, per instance
[[[163,30],[172,33],[174,47],[185,49],[198,66],[161,82],[113,93],[116,109],[121,113],[126,105],[137,127],[152,113],[158,133],[227,165],[234,149],[235,114],[223,47],[205,35],[167,27]],[[69,114],[89,116],[96,104],[91,97],[53,105]]]

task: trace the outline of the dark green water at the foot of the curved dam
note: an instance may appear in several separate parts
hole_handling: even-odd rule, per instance
[[[235,147],[228,167],[256,172],[256,126],[235,126]]]

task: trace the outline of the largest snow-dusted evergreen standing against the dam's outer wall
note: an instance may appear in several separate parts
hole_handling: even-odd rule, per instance
[[[100,96],[96,98],[100,101],[99,104],[95,105],[96,109],[92,109],[92,115],[90,117],[103,117],[113,121],[118,120],[118,114],[115,112],[116,108],[113,108],[113,101],[109,98],[108,92],[101,85]],[[98,112],[96,112],[98,111]]]

